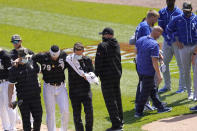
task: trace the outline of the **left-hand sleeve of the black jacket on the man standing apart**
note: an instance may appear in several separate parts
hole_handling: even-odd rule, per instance
[[[98,45],[95,58],[95,75],[99,76],[103,66],[103,56],[105,55],[105,49],[101,44]]]

